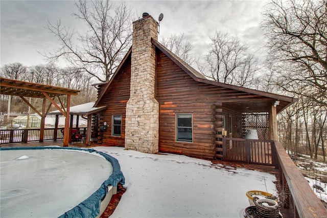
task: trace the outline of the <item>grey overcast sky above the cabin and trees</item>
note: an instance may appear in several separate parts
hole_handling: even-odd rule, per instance
[[[25,66],[45,64],[38,53],[59,47],[59,41],[44,27],[48,20],[55,23],[61,18],[63,25],[78,30],[80,23],[72,17],[76,12],[74,1],[0,1],[1,56],[0,65],[13,62]],[[155,19],[160,13],[159,41],[174,33],[184,33],[193,42],[193,53],[203,55],[208,50],[209,35],[216,30],[228,31],[247,41],[251,52],[258,51],[262,43],[259,28],[265,1],[126,1],[135,17],[148,12]],[[61,63],[61,66],[63,63]],[[62,66],[64,67],[64,66]]]

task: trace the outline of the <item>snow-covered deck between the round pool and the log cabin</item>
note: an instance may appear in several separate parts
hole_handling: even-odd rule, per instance
[[[118,159],[125,176],[127,190],[110,217],[244,217],[247,191],[276,193],[270,173],[181,155],[95,149]]]

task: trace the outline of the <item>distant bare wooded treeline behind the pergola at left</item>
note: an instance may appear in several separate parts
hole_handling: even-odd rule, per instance
[[[92,86],[92,84],[96,83],[96,80],[80,72],[78,69],[59,68],[55,64],[27,67],[21,63],[11,63],[3,66],[0,71],[2,77],[9,79],[80,90],[81,92],[77,96],[71,97],[71,105],[73,106],[97,99],[97,90]],[[11,112],[19,114],[26,114],[28,112],[28,105],[18,96],[1,95],[1,114],[7,114],[9,97],[11,97]],[[36,109],[41,110],[42,99],[33,98],[31,99],[31,104]],[[57,109],[53,107],[53,110]]]

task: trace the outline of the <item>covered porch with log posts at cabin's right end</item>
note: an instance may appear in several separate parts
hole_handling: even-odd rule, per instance
[[[257,143],[256,149],[270,149],[267,153],[271,164],[273,151],[270,143],[278,140],[277,114],[297,99],[257,90],[246,89],[246,92],[242,92],[244,88],[241,87],[234,89],[241,94],[232,93],[228,99],[221,99],[214,105],[215,157],[228,159],[227,153],[232,147],[231,143],[238,144],[240,149],[245,149],[244,144],[248,143],[246,139],[255,139],[260,140],[260,146]],[[248,157],[244,153],[242,158],[245,160]]]

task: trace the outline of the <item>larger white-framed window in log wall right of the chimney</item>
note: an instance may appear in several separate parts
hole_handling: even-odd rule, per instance
[[[192,114],[176,114],[176,141],[193,142]]]

